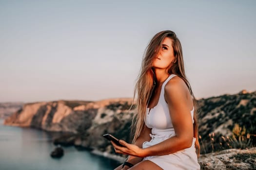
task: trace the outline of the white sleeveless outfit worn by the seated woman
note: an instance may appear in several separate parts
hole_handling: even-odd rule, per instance
[[[151,130],[151,140],[145,141],[142,144],[142,148],[147,148],[152,145],[158,144],[159,142],[175,136],[174,127],[169,114],[168,104],[164,100],[164,86],[166,83],[176,76],[171,74],[164,82],[161,87],[160,97],[158,104],[150,109],[146,109],[146,118],[144,119],[145,124]],[[194,107],[191,110],[191,117],[194,123]],[[160,156],[147,156],[143,160],[150,160],[161,167],[163,170],[200,170],[200,165],[197,161],[197,154],[195,149],[196,138],[193,137],[193,143],[190,148]]]

